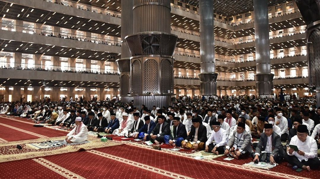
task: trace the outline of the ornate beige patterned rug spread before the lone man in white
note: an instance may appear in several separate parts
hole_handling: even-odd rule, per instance
[[[114,145],[121,145],[119,143],[113,141],[101,142],[100,138],[92,138],[88,137],[88,141],[86,143],[74,144],[74,145],[60,145],[56,147],[49,147],[43,149],[35,149],[34,147],[30,147],[28,144],[30,143],[41,143],[47,140],[51,141],[59,141],[64,140],[63,137],[55,137],[55,138],[39,138],[33,140],[25,140],[25,141],[14,141],[14,142],[4,142],[0,143],[0,162],[12,161],[12,160],[21,160],[21,159],[29,159],[35,157],[43,157],[47,155],[55,155],[61,153],[70,153],[77,152],[79,150],[90,150],[100,147],[108,147]],[[21,150],[17,149],[17,145],[22,147]]]

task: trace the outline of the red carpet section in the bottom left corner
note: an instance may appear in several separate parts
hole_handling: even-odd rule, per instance
[[[0,168],[0,178],[3,179],[66,179],[31,159],[0,163]]]

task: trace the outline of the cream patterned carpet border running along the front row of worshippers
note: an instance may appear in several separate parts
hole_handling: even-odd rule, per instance
[[[126,145],[132,145],[132,146],[136,146],[136,147],[140,147],[140,148],[147,148],[147,149],[152,149],[151,146],[148,145],[142,145],[139,143],[134,143],[134,142],[130,142],[130,141],[115,141],[117,143],[121,143],[121,144],[126,144]],[[183,157],[187,157],[187,158],[191,158],[193,159],[192,155],[194,153],[188,154],[188,153],[181,153],[181,152],[176,152],[176,151],[172,151],[172,150],[158,150],[159,152],[164,152],[164,153],[170,153],[170,154],[174,154],[174,155],[180,155]],[[195,160],[195,159],[193,159]],[[217,165],[222,165],[225,167],[231,167],[231,168],[235,168],[235,169],[239,169],[239,170],[246,170],[246,171],[250,171],[250,172],[256,172],[256,173],[260,173],[260,174],[265,174],[265,175],[270,175],[270,176],[276,176],[276,177],[281,177],[281,178],[287,178],[287,179],[309,179],[306,177],[302,177],[302,176],[296,176],[296,175],[290,175],[290,174],[284,174],[284,173],[279,173],[279,172],[273,172],[270,170],[264,170],[264,169],[260,169],[260,168],[252,168],[252,167],[246,167],[243,165],[238,165],[238,164],[233,164],[233,163],[228,163],[228,162],[223,162],[223,161],[218,161],[218,160],[212,160],[212,159],[206,159],[204,158],[202,161],[208,162],[208,163],[213,163],[213,164],[217,164]]]

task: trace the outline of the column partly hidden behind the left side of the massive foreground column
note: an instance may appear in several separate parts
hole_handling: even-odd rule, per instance
[[[116,60],[120,71],[121,101],[130,102],[133,97],[130,93],[130,57],[125,37],[133,33],[133,0],[121,0],[121,59]]]

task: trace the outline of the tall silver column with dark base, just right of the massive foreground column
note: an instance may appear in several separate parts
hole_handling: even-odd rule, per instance
[[[200,10],[200,93],[217,94],[217,77],[214,59],[213,0],[199,0]]]

